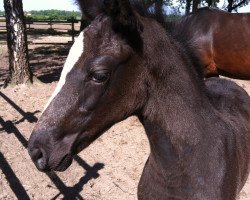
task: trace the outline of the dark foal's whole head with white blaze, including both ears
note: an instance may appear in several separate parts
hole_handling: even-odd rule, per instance
[[[29,153],[42,171],[65,170],[74,154],[113,124],[140,114],[147,99],[146,19],[128,0],[79,5],[92,22],[75,41],[29,140]]]

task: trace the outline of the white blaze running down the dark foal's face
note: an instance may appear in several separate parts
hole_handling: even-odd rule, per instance
[[[69,55],[68,55],[66,62],[64,64],[64,67],[63,67],[63,70],[61,73],[61,77],[57,83],[56,89],[53,92],[53,94],[51,95],[51,97],[49,98],[49,101],[47,102],[43,111],[45,111],[45,109],[48,107],[48,105],[51,103],[51,101],[60,92],[63,85],[65,84],[67,74],[71,71],[71,69],[74,67],[74,65],[76,64],[76,62],[79,60],[80,56],[82,55],[82,53],[84,51],[83,39],[84,39],[84,32],[82,31],[79,34],[79,36],[77,37],[77,39],[75,40],[73,46],[71,47],[71,49],[69,51]]]

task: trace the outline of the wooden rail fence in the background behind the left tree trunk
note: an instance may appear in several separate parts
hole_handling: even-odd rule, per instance
[[[71,35],[72,42],[80,29],[80,20],[69,19],[65,21],[55,20],[26,20],[27,34],[48,34],[48,35]],[[0,16],[0,34],[6,33],[6,21]]]

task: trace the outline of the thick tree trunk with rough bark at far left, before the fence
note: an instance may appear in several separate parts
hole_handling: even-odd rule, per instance
[[[4,0],[4,9],[9,51],[9,76],[5,86],[32,82],[22,0]]]

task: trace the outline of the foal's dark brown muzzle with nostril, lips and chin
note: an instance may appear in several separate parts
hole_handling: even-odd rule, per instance
[[[75,135],[55,140],[52,136],[58,130],[33,131],[28,144],[29,155],[42,172],[64,171],[72,163],[72,145]],[[52,134],[53,133],[53,134]]]

